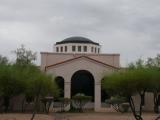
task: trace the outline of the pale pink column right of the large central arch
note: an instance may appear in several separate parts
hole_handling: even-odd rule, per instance
[[[94,110],[100,111],[101,109],[101,83],[95,83],[95,103],[94,103]]]

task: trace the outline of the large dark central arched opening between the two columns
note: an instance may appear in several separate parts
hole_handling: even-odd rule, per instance
[[[77,93],[92,96],[94,101],[94,77],[87,70],[79,70],[71,78],[71,97]]]

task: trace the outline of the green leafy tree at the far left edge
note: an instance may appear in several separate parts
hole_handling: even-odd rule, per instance
[[[0,65],[0,95],[3,98],[5,112],[10,106],[10,99],[24,91],[24,81],[21,71],[11,64]]]

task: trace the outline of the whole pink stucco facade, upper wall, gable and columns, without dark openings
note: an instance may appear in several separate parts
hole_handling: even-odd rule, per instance
[[[71,97],[71,78],[76,71],[87,70],[94,77],[94,109],[101,109],[101,80],[120,67],[119,54],[73,54],[41,52],[41,69],[64,78],[64,97]]]

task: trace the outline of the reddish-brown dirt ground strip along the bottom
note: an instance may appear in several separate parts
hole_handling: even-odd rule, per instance
[[[155,120],[154,113],[144,113],[144,120]],[[30,120],[31,114],[0,114],[0,120]],[[52,113],[38,114],[34,120],[135,120],[131,113]]]

